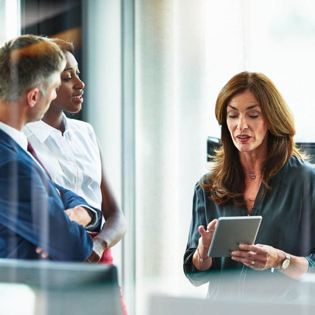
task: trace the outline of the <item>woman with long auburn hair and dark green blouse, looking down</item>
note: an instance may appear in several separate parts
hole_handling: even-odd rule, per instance
[[[219,93],[215,115],[222,146],[195,187],[186,277],[209,282],[211,296],[218,270],[272,268],[293,279],[315,272],[315,168],[295,147],[294,118],[277,88],[261,73],[239,73]],[[256,244],[208,257],[217,218],[240,215],[262,216]]]

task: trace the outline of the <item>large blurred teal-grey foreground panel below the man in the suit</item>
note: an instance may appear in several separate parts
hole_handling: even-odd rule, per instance
[[[0,259],[0,284],[31,288],[34,315],[121,314],[115,266]]]

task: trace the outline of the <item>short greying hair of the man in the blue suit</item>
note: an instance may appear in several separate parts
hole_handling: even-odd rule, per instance
[[[15,102],[33,88],[44,98],[64,60],[58,45],[45,37],[22,35],[5,43],[0,48],[0,99]]]

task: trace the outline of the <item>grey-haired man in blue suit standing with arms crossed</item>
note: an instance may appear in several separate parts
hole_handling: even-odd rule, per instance
[[[100,230],[100,210],[54,184],[21,132],[56,98],[65,64],[56,44],[34,35],[0,49],[0,258],[39,259],[40,247],[53,260],[85,261],[85,228]]]

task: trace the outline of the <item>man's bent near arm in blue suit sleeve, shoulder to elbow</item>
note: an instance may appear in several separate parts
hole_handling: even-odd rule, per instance
[[[5,228],[41,247],[54,260],[84,261],[89,257],[92,238],[64,212],[64,203],[75,207],[82,200],[59,186],[60,194],[66,196],[63,202],[54,184],[35,163],[2,163],[0,187],[0,223]]]

